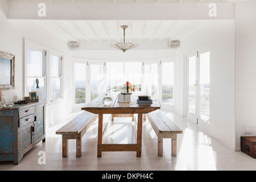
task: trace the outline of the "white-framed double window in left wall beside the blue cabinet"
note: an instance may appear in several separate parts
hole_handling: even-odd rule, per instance
[[[25,96],[37,92],[39,100],[47,104],[62,98],[62,56],[28,40],[25,47]]]

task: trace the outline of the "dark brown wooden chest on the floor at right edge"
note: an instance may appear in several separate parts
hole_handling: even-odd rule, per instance
[[[256,137],[241,137],[241,151],[256,159]]]

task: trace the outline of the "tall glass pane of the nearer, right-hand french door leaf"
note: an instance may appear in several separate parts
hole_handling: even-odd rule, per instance
[[[200,118],[210,118],[210,52],[200,55]]]

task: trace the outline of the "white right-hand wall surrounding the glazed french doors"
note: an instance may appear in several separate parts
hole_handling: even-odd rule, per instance
[[[175,111],[185,116],[184,56],[210,48],[210,124],[201,125],[234,148],[234,20],[209,21],[181,41],[176,58]]]

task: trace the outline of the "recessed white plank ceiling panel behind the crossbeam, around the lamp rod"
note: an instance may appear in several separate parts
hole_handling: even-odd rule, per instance
[[[168,43],[181,40],[199,28],[205,21],[193,20],[35,20],[47,31],[66,41],[79,43],[117,43],[123,42],[123,24],[128,25],[125,42]]]

